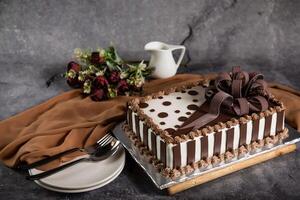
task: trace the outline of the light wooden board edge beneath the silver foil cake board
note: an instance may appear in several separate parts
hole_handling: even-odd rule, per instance
[[[253,158],[232,164],[230,166],[214,170],[212,172],[208,172],[206,174],[200,175],[196,178],[192,178],[190,180],[187,180],[182,183],[178,183],[176,185],[170,186],[167,188],[168,194],[173,195],[178,192],[181,192],[183,190],[189,189],[191,187],[201,185],[203,183],[207,183],[209,181],[215,180],[219,177],[226,176],[228,174],[231,174],[233,172],[236,172],[241,169],[245,169],[247,167],[256,165],[258,163],[262,163],[264,161],[276,158],[278,156],[293,152],[297,149],[296,144],[289,144],[280,148],[276,148],[272,151],[268,151],[266,153],[262,153],[258,156],[255,156]]]

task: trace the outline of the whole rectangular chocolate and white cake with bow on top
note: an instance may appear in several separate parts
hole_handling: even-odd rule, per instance
[[[133,99],[124,130],[163,175],[177,177],[281,142],[284,110],[261,74],[235,67]]]

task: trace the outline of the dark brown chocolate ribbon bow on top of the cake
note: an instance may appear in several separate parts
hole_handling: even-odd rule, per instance
[[[264,97],[267,94],[267,84],[263,79],[262,74],[249,74],[241,71],[240,67],[233,67],[231,73],[221,73],[206,89],[208,113],[180,129],[197,130],[216,119],[221,110],[234,116],[265,111],[269,104]]]

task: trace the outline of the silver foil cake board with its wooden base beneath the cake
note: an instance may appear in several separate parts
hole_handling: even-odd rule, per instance
[[[216,166],[210,165],[205,169],[197,169],[188,175],[171,179],[162,176],[158,170],[151,163],[149,163],[149,161],[147,161],[147,158],[139,153],[139,149],[131,142],[131,140],[122,130],[123,124],[124,123],[121,123],[116,126],[116,128],[113,130],[114,135],[118,140],[121,141],[132,158],[144,169],[156,187],[161,190],[167,188],[169,194],[175,194],[235,171],[295,151],[297,148],[296,143],[300,141],[300,133],[293,128],[288,127],[289,137],[283,140],[280,144],[269,148],[263,147],[256,152],[248,153],[245,156],[238,159],[233,159],[230,162],[225,162]]]

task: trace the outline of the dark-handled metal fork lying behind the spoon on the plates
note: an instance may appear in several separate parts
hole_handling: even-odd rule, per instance
[[[33,169],[33,168],[36,168],[38,166],[41,166],[41,165],[45,165],[49,162],[52,162],[62,156],[65,156],[67,154],[71,154],[73,152],[76,152],[76,151],[81,151],[81,152],[84,152],[86,154],[93,154],[97,148],[101,147],[101,146],[104,146],[106,144],[108,144],[109,142],[112,141],[112,136],[110,133],[106,134],[105,136],[103,136],[100,140],[98,140],[93,146],[90,146],[90,147],[87,147],[87,148],[72,148],[72,149],[68,149],[64,152],[61,152],[61,153],[58,153],[58,154],[55,154],[53,156],[50,156],[50,157],[47,157],[47,158],[44,158],[42,160],[39,160],[37,162],[34,162],[34,163],[31,163],[31,164],[20,164],[18,166],[19,169],[23,169],[23,170],[29,170],[29,169]]]

